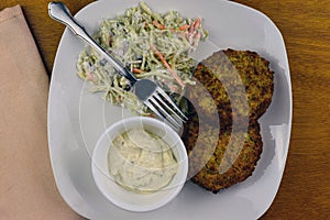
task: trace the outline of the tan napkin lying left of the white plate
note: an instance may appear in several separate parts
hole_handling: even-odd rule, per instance
[[[48,78],[19,6],[0,11],[0,219],[80,219],[55,186]]]

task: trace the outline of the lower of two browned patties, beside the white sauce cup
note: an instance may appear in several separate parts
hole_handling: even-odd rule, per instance
[[[248,131],[219,132],[213,125],[199,123],[197,116],[186,124],[183,140],[189,177],[215,194],[251,176],[263,146],[257,121],[251,121]]]

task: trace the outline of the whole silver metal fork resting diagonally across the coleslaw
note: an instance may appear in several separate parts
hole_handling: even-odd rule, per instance
[[[119,62],[110,53],[99,46],[90,35],[85,31],[84,26],[77,23],[72,16],[68,8],[62,2],[50,2],[50,16],[66,26],[68,26],[79,38],[87,42],[94,47],[103,58],[110,62],[113,68],[127,79],[131,81],[131,90],[136,97],[144,102],[157,117],[163,119],[177,132],[180,130],[187,117],[180,111],[168,95],[150,79],[138,79],[131,70]]]

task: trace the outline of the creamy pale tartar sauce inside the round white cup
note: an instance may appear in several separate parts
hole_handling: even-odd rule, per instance
[[[108,164],[119,185],[141,194],[167,186],[178,168],[170,146],[143,129],[118,135],[109,150]]]

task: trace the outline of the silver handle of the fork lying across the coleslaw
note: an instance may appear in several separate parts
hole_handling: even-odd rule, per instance
[[[70,14],[68,8],[62,2],[50,2],[48,14],[55,21],[58,21],[66,26],[68,26],[79,38],[87,42],[91,47],[94,47],[101,56],[103,56],[108,62],[112,64],[114,69],[127,79],[129,79],[132,85],[138,81],[138,78],[125,67],[121,62],[119,62],[114,56],[106,52],[98,43],[96,43],[90,35],[86,32],[84,26],[81,26]]]

